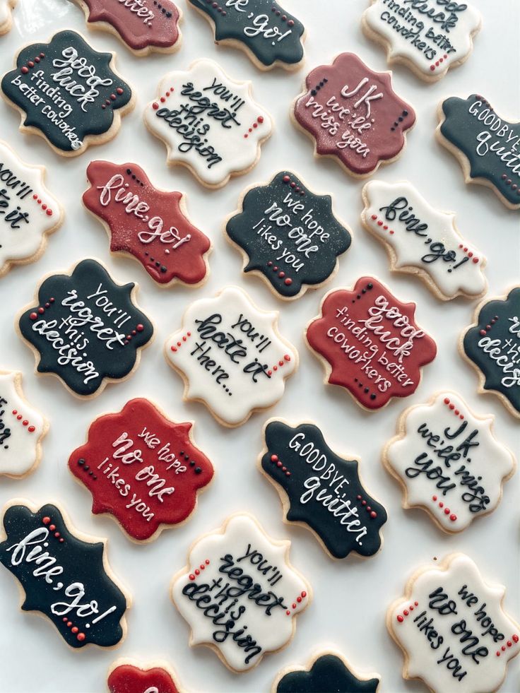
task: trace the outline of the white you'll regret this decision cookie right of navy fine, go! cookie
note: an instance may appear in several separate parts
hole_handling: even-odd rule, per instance
[[[309,584],[289,563],[289,541],[271,539],[254,517],[230,516],[197,540],[172,581],[172,600],[191,629],[190,645],[211,647],[231,670],[254,668],[289,644]]]

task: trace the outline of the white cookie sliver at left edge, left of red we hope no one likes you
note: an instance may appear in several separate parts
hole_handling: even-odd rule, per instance
[[[0,476],[20,478],[40,461],[47,422],[25,401],[22,374],[0,371]]]

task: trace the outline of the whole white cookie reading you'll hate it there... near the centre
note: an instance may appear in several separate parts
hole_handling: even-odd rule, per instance
[[[184,379],[184,397],[206,404],[225,426],[240,426],[278,402],[298,354],[278,334],[277,321],[278,311],[257,308],[235,286],[192,303],[165,344],[167,362]]]

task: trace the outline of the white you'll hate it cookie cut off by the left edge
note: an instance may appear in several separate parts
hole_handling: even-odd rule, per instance
[[[13,264],[37,260],[46,235],[61,224],[63,211],[45,189],[44,174],[0,141],[0,277]]]

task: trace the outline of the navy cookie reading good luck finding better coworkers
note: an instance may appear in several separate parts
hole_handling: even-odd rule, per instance
[[[113,61],[113,53],[95,51],[71,30],[22,48],[16,68],[1,81],[6,100],[20,112],[20,130],[42,136],[64,156],[112,139],[134,107]]]

